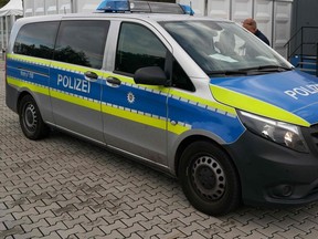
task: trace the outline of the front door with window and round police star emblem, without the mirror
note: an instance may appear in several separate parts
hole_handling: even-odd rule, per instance
[[[158,65],[165,70],[167,49],[141,24],[120,25],[115,71],[106,73],[102,112],[109,146],[167,164],[167,97],[169,89],[137,85],[136,70]]]

